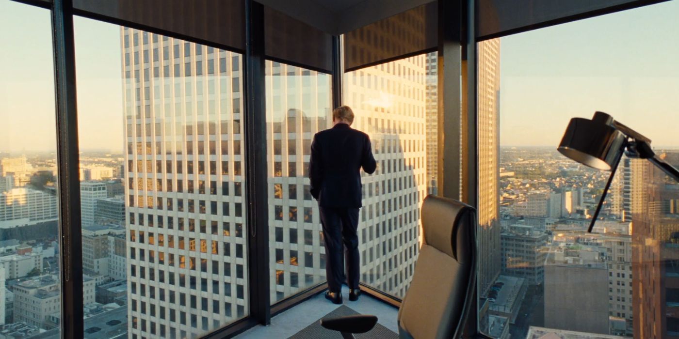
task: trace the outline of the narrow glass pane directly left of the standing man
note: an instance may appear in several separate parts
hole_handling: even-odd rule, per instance
[[[311,140],[331,126],[331,77],[266,62],[271,302],[325,281],[318,203],[309,192]]]

